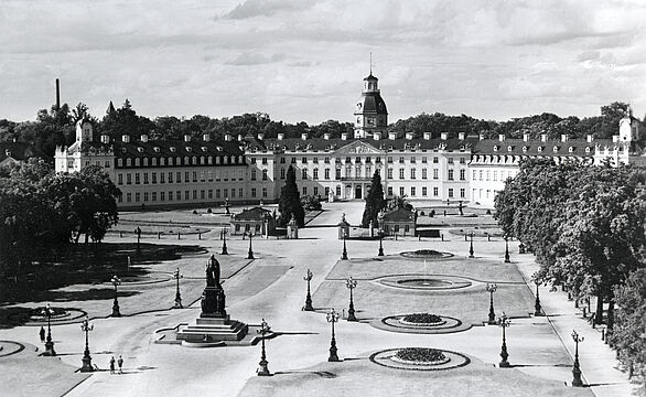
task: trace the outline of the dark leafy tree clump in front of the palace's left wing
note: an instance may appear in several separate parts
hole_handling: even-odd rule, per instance
[[[100,242],[117,223],[120,195],[95,165],[72,174],[37,159],[0,168],[0,273],[24,273],[80,235]]]

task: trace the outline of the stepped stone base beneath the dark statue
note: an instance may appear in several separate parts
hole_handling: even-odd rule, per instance
[[[176,339],[193,343],[240,341],[248,331],[247,324],[230,320],[228,314],[224,318],[201,316],[194,324],[182,326]]]

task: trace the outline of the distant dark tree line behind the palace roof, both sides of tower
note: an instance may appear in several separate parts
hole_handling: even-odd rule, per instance
[[[391,124],[388,129],[399,133],[408,131],[418,135],[431,132],[435,137],[441,132],[466,132],[482,133],[487,138],[495,138],[500,133],[509,138],[521,138],[524,133],[529,133],[532,139],[539,138],[541,133],[547,133],[550,138],[558,138],[563,133],[571,138],[584,138],[588,133],[592,133],[596,138],[609,138],[617,133],[618,120],[626,115],[627,109],[628,104],[615,101],[601,107],[601,116],[595,117],[579,119],[570,116],[561,118],[546,112],[503,122],[476,119],[466,115],[421,114],[398,120]],[[265,133],[267,138],[276,138],[278,133],[283,133],[287,138],[297,138],[303,132],[308,132],[312,138],[321,138],[324,133],[331,133],[332,137],[337,138],[343,132],[353,131],[351,122],[327,120],[313,126],[309,126],[304,121],[287,124],[271,120],[269,115],[263,112],[219,119],[195,115],[191,118],[163,116],[151,120],[146,116],[138,115],[130,101],[126,99],[120,108],[115,108],[110,103],[101,119],[93,117],[84,104],[78,104],[73,109],[67,104],[60,108],[52,106],[50,111],[40,110],[35,121],[13,122],[2,119],[0,120],[0,141],[15,139],[29,142],[47,155],[53,155],[56,146],[74,142],[75,122],[83,117],[88,117],[94,121],[97,139],[99,135],[120,139],[123,133],[148,135],[152,140],[170,140],[182,139],[184,135],[191,135],[197,139],[204,133],[212,138],[218,138],[225,133],[256,136],[259,132]],[[646,117],[643,125],[646,125]],[[646,137],[643,139],[646,141]]]

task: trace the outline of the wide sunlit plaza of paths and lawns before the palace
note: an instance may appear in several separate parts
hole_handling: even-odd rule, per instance
[[[224,208],[213,214],[205,210],[197,214],[122,214],[118,228],[105,240],[110,253],[88,251],[79,259],[122,264],[117,271],[122,315],[110,316],[110,277],[71,282],[0,308],[0,394],[631,396],[633,385],[601,340],[601,330],[589,325],[566,292],[542,286],[537,289],[531,282],[537,265],[530,254],[519,255],[517,243],[509,242],[512,261],[506,264],[505,240],[496,234],[476,234],[470,257],[471,242],[463,233],[476,226],[491,227],[495,224],[491,215],[480,214],[471,221],[441,217],[446,225],[442,238],[386,238],[385,256],[377,256],[378,239],[349,238],[345,242],[348,260],[341,260],[343,242],[336,225],[343,214],[351,225],[358,225],[363,208],[363,201],[324,203],[323,212],[312,214],[306,227],[299,230],[299,239],[254,238],[255,259],[247,259],[249,240],[239,236],[227,238],[229,255],[220,255],[218,225],[228,219]],[[232,212],[240,210],[233,207]],[[139,250],[131,232],[138,226],[143,232]],[[407,255],[420,249],[442,256]],[[273,334],[266,347],[272,376],[256,376],[259,343],[205,348],[165,343],[173,329],[200,315],[204,268],[211,255],[222,265],[228,313],[249,325],[265,319],[271,326]],[[173,271],[177,268],[183,276],[182,309],[173,309]],[[313,311],[302,310],[308,269],[313,273]],[[356,322],[346,321],[349,277],[357,281],[353,289]],[[441,288],[424,288],[429,280]],[[505,330],[510,368],[498,366],[503,329],[487,324],[491,296],[486,286],[492,283],[497,286],[493,293],[496,318],[504,312],[510,319]],[[541,312],[547,315],[534,315],[537,291]],[[52,319],[55,357],[39,355],[43,352],[39,330],[46,323],[30,316],[46,302],[67,313]],[[330,309],[341,314],[334,324],[340,362],[327,361]],[[403,314],[423,312],[449,323],[443,329],[423,330],[392,322]],[[94,373],[76,371],[85,347],[79,325],[86,313],[94,325],[89,347],[99,369]],[[584,336],[579,354],[588,387],[571,387],[572,330]],[[464,362],[429,371],[383,365],[380,354],[402,347],[454,352]],[[111,375],[109,360],[119,355],[125,361],[123,374]]]

